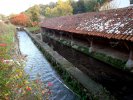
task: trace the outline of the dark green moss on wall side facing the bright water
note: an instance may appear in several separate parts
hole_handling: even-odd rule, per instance
[[[41,50],[42,51],[42,50]],[[62,69],[61,65],[55,61],[54,58],[52,58],[51,55],[49,55],[46,51],[43,51],[46,58],[50,61],[50,63],[54,66],[56,71],[60,74],[64,82],[67,84],[69,88],[71,88],[82,100],[87,100],[86,92],[84,92],[83,86],[79,84],[78,81],[76,81],[66,70]]]

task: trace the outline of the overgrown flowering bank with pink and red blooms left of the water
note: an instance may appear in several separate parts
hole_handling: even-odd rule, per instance
[[[25,57],[16,53],[15,27],[4,23],[0,26],[0,100],[42,100],[43,95],[47,98],[46,86],[38,76],[35,81],[28,80]]]

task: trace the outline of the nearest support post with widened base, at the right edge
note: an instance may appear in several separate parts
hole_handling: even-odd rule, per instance
[[[133,69],[133,45],[130,46],[129,58],[126,63],[126,68]]]

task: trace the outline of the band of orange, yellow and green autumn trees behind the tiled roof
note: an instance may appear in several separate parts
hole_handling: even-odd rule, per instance
[[[20,14],[10,15],[9,19],[11,23],[15,25],[34,27],[44,18],[99,11],[99,8],[109,1],[110,0],[58,0],[56,3],[51,2],[46,5],[34,5]],[[4,18],[5,17],[1,15],[1,19]]]

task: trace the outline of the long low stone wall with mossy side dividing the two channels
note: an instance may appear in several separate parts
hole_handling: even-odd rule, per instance
[[[46,43],[36,39],[36,37],[31,35],[27,29],[24,29],[24,31],[54,66],[67,86],[77,93],[81,99],[115,100],[115,97],[110,95],[110,92],[102,85],[96,83],[89,78],[89,76],[74,67],[69,61],[59,55],[56,51],[52,50]]]

